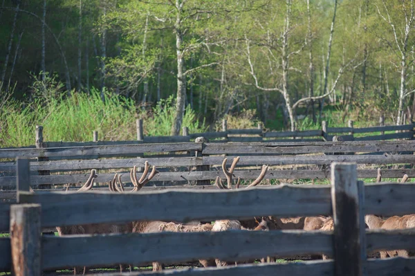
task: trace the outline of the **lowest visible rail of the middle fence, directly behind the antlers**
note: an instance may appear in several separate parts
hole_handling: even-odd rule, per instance
[[[120,172],[122,181],[131,183],[129,172]],[[415,177],[415,169],[387,169],[382,171],[385,178],[398,178],[407,174],[409,177]],[[259,170],[235,170],[234,176],[241,179],[255,179],[259,175]],[[50,176],[30,176],[31,185],[44,184],[67,184],[67,183],[85,183],[89,174],[55,174]],[[112,180],[114,174],[98,174],[95,178],[96,183],[107,183]],[[204,171],[204,172],[160,172],[151,180],[151,183],[157,181],[201,181],[214,180],[216,176],[224,178],[223,172]],[[378,176],[377,169],[359,169],[359,178],[376,178]],[[275,169],[268,170],[265,179],[314,179],[314,178],[330,178],[330,169]],[[15,186],[15,176],[0,177],[1,186]]]

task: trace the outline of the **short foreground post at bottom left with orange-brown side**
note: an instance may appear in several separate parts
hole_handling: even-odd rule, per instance
[[[10,206],[12,275],[41,276],[41,208],[39,204]]]

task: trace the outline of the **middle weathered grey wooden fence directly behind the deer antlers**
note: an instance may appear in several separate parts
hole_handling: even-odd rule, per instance
[[[415,141],[377,141],[377,142],[255,142],[255,143],[171,143],[141,145],[111,145],[87,147],[57,147],[41,149],[0,149],[0,158],[55,158],[60,160],[36,161],[31,159],[30,182],[33,185],[62,185],[84,183],[89,174],[86,169],[130,169],[134,165],[143,166],[145,161],[156,165],[160,173],[152,183],[162,181],[181,181],[178,184],[209,185],[216,176],[223,176],[221,163],[223,155],[228,156],[228,164],[233,156],[241,156],[235,177],[255,179],[256,169],[261,165],[273,166],[266,179],[314,179],[329,178],[332,162],[354,162],[358,164],[407,165],[407,168],[385,169],[384,178],[398,178],[407,174],[415,177],[412,164],[415,163]],[[411,154],[403,154],[410,152]],[[181,154],[185,152],[185,154]],[[173,154],[172,154],[173,153]],[[195,154],[196,153],[196,154]],[[374,155],[378,153],[384,153]],[[142,155],[140,158],[124,158]],[[169,155],[163,155],[169,154]],[[352,154],[352,155],[349,155]],[[164,157],[166,156],[166,157]],[[108,157],[104,158],[103,157]],[[120,157],[114,159],[113,157]],[[80,160],[70,160],[80,158]],[[69,159],[69,160],[68,160]],[[318,165],[314,168],[295,168],[286,165]],[[187,171],[170,171],[174,167],[185,167]],[[196,167],[196,170],[192,169]],[[190,169],[189,169],[190,168]],[[75,171],[75,172],[73,172]],[[80,172],[81,171],[81,172]],[[0,163],[0,172],[11,176],[0,176],[0,187],[15,186],[15,162]],[[50,172],[59,174],[39,174]],[[64,173],[64,174],[62,174]],[[37,175],[36,175],[37,174]],[[129,183],[129,172],[120,172],[123,180]],[[377,167],[358,169],[359,178],[375,178]],[[95,183],[107,183],[113,173],[99,172]],[[204,182],[203,182],[204,181]],[[208,182],[206,182],[208,181]],[[151,185],[151,183],[150,183]]]

